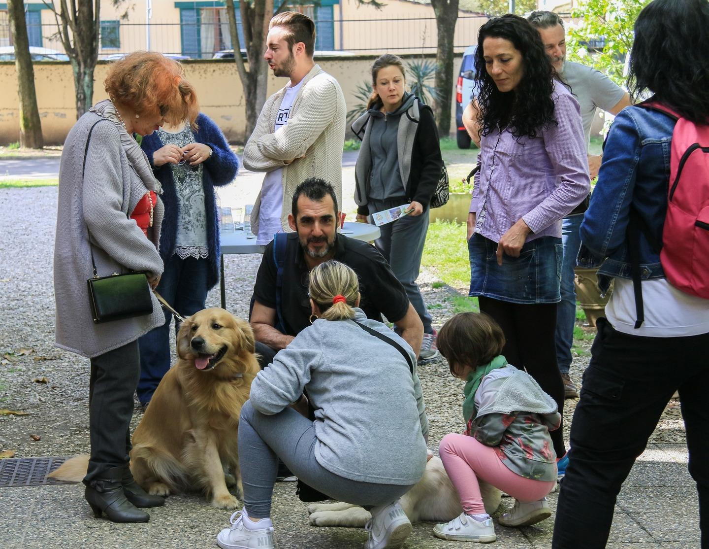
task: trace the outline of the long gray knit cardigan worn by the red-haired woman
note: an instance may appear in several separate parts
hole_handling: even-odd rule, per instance
[[[91,133],[82,184],[84,148]],[[152,314],[94,324],[86,279],[93,275],[89,233],[99,276],[128,270],[162,275],[157,252],[163,206],[157,200],[148,238],[128,218],[147,188],[121,146],[118,128],[97,113],[84,114],[64,143],[59,169],[57,235],[54,248],[56,345],[96,357],[138,339],[165,321],[155,296]],[[88,228],[88,231],[87,231]]]

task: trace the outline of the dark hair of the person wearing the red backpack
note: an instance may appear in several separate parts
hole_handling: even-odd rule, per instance
[[[654,0],[635,21],[628,89],[646,91],[695,123],[709,117],[709,2]]]

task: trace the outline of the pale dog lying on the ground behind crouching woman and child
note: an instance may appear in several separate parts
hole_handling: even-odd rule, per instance
[[[501,492],[487,482],[480,482],[485,511],[493,514],[502,498]],[[446,475],[440,457],[431,457],[418,484],[403,494],[401,507],[411,522],[448,522],[463,512],[458,492]],[[311,504],[309,521],[313,526],[364,528],[372,514],[362,507],[346,503]]]

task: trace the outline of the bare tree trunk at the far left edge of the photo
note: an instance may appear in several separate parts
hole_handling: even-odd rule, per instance
[[[44,139],[40,113],[37,109],[35,70],[32,66],[32,57],[30,57],[23,0],[9,0],[8,12],[15,42],[15,67],[20,99],[20,146],[41,149],[44,147]]]

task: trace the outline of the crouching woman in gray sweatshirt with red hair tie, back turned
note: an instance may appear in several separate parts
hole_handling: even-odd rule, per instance
[[[347,265],[318,265],[308,292],[313,326],[259,372],[242,408],[244,509],[217,543],[273,548],[269,515],[280,457],[308,486],[372,511],[366,548],[398,547],[411,532],[398,498],[426,465],[428,420],[416,357],[405,340],[357,308],[357,275]],[[306,404],[303,389],[315,421],[290,406]]]

